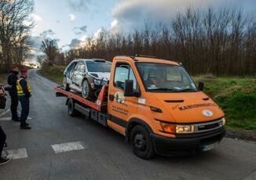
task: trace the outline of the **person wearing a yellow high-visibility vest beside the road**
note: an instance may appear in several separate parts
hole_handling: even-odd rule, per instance
[[[31,129],[29,124],[27,124],[27,117],[29,113],[29,98],[31,97],[31,86],[26,81],[27,78],[27,70],[20,70],[21,75],[17,80],[16,88],[18,99],[21,104],[21,115],[20,115],[20,128],[21,129]]]

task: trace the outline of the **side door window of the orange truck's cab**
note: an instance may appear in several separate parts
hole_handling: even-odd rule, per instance
[[[125,81],[133,80],[133,88],[137,90],[137,80],[133,69],[127,63],[117,63],[115,66],[114,86],[124,90]]]

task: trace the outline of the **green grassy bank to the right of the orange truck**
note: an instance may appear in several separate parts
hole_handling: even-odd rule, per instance
[[[194,77],[221,106],[231,128],[256,131],[256,77]]]

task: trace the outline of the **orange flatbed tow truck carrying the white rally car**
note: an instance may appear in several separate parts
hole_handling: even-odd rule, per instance
[[[147,56],[116,56],[97,100],[55,88],[70,116],[83,113],[118,131],[137,157],[213,149],[225,135],[225,114],[181,63]]]

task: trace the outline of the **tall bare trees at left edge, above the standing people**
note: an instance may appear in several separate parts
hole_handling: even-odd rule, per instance
[[[0,73],[21,64],[31,50],[33,0],[0,1]]]

